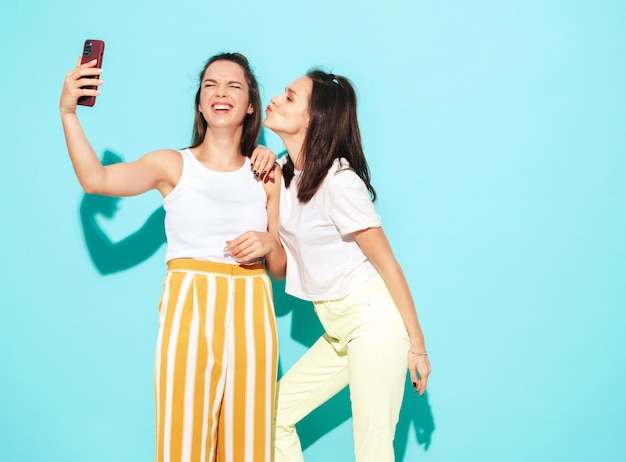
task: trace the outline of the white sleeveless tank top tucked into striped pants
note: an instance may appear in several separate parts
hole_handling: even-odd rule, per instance
[[[267,231],[267,195],[254,179],[250,159],[233,172],[205,167],[189,149],[176,187],[163,199],[167,251],[174,258],[237,263],[224,253],[227,240],[245,231]]]

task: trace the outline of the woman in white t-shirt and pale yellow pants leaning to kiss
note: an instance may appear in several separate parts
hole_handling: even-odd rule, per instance
[[[420,395],[431,367],[372,204],[354,89],[311,71],[272,99],[264,125],[289,154],[279,213],[285,290],[312,301],[325,329],[278,383],[275,462],[303,460],[295,424],[346,385],[357,461],[391,462],[407,365]]]

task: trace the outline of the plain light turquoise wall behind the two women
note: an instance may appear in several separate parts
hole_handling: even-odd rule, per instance
[[[624,24],[619,0],[5,4],[0,460],[153,457],[164,248],[122,260],[160,197],[96,216],[105,263],[131,265],[101,274],[57,106],[85,38],[107,49],[84,128],[126,160],[189,143],[216,52],[249,57],[264,104],[313,65],[353,79],[434,368],[407,393],[399,460],[624,460]],[[319,326],[276,289],[285,370]],[[301,433],[307,461],[352,460],[347,395]]]

